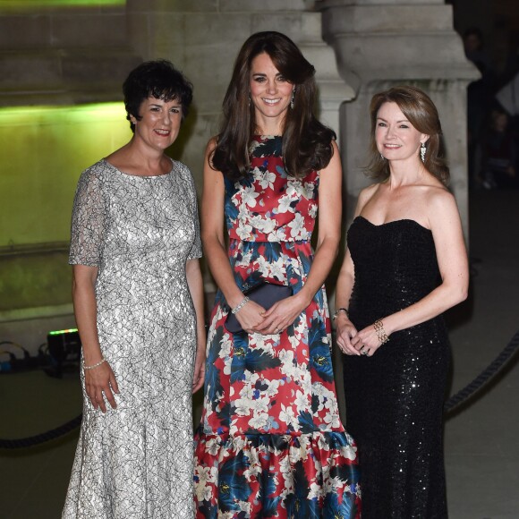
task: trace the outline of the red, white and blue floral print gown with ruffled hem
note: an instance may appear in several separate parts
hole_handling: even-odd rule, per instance
[[[279,136],[251,143],[252,173],[225,180],[229,259],[243,290],[301,290],[311,268],[319,173],[287,176]],[[195,447],[197,517],[360,516],[357,453],[339,419],[324,287],[277,335],[232,334],[217,301]]]

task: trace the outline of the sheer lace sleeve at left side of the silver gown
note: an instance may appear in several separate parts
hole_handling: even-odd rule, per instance
[[[72,208],[69,264],[96,267],[105,233],[105,204],[98,174],[81,174]]]

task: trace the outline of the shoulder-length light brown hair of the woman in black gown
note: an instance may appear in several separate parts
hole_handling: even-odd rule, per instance
[[[380,156],[375,140],[377,129],[377,115],[380,106],[384,103],[396,103],[405,118],[413,124],[418,132],[429,135],[425,143],[426,152],[424,166],[444,185],[449,183],[449,170],[444,158],[441,143],[441,123],[438,110],[430,97],[421,89],[412,86],[399,86],[375,94],[370,103],[371,138],[369,149],[370,163],[366,167],[366,174],[379,181],[389,176],[389,165],[384,157]]]

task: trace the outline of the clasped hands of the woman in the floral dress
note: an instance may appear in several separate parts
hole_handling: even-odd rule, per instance
[[[268,310],[257,302],[249,301],[236,313],[236,318],[248,333],[275,335],[294,323],[305,308],[306,305],[296,295],[274,303]]]

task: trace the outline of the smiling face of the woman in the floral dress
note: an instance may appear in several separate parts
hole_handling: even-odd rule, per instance
[[[263,132],[274,128],[274,132],[280,133],[294,85],[277,70],[267,53],[252,60],[249,88],[259,128]]]

